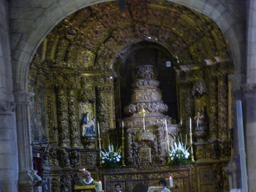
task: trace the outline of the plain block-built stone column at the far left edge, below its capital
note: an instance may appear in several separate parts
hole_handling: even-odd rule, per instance
[[[15,112],[12,103],[6,104],[6,101],[0,103],[0,191],[17,192],[19,167]]]

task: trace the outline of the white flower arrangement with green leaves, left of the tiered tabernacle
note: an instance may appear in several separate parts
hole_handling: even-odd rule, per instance
[[[103,148],[104,149],[104,148]],[[107,168],[117,168],[121,166],[121,151],[122,148],[116,146],[116,150],[114,150],[113,144],[109,144],[107,150],[101,151],[101,163],[102,167]]]

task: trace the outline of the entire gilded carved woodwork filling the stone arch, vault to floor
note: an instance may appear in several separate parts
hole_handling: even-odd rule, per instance
[[[116,10],[118,2],[113,1],[71,14],[44,40],[41,58],[45,58],[42,59],[45,62],[36,56],[31,63],[29,81],[35,82],[36,89],[43,86],[47,139],[50,142],[59,141],[60,144],[51,147],[48,159],[44,159],[44,174],[50,178],[49,190],[59,191],[61,174],[65,175],[68,188],[73,190],[74,185],[82,178],[78,171],[81,167],[98,172],[99,178],[104,175],[107,191],[113,190],[111,182],[120,180],[133,180],[129,181],[131,185],[125,186],[127,192],[140,182],[136,179],[146,179],[147,186],[157,186],[160,176],[168,178],[170,174],[178,186],[172,191],[227,190],[227,177],[222,172],[225,163],[214,167],[216,184],[201,184],[201,178],[198,183],[190,183],[197,180],[196,175],[201,171],[197,166],[202,167],[205,166],[203,163],[208,163],[205,169],[202,167],[202,172],[207,173],[214,161],[228,161],[231,155],[233,103],[227,75],[232,72],[233,64],[225,58],[230,51],[221,30],[205,15],[168,1],[128,1],[127,10]],[[187,30],[195,33],[187,33]],[[98,166],[97,136],[90,141],[92,148],[86,149],[81,137],[81,118],[86,111],[93,114],[100,125],[102,145],[104,143],[106,146],[110,139],[120,138],[120,130],[114,130],[116,119],[121,120],[119,86],[122,76],[119,73],[123,68],[120,65],[132,50],[139,47],[141,41],[146,41],[141,47],[147,47],[147,43],[156,44],[155,49],[177,57],[172,63],[176,67],[177,116],[182,119],[182,124],[172,124],[175,120],[163,115],[167,111],[167,105],[160,101],[162,93],[158,90],[153,92],[160,86],[158,80],[152,79],[152,76],[148,80],[136,80],[132,84],[132,88],[136,90],[132,94],[132,100],[138,104],[127,107],[130,117],[126,117],[124,122],[127,168],[111,174],[109,170],[102,170]],[[215,55],[222,57],[214,57]],[[204,60],[213,57],[214,59]],[[165,62],[164,59],[159,60],[158,64],[162,62]],[[130,65],[137,66],[136,63]],[[122,67],[126,69],[126,66]],[[165,68],[162,71],[165,72],[164,70]],[[118,74],[115,78],[119,78],[117,83],[110,78],[115,73]],[[154,73],[151,75],[155,77]],[[146,77],[146,73],[143,77]],[[193,95],[194,88],[200,88],[198,82],[202,81],[207,94]],[[30,85],[28,90],[32,90]],[[34,93],[38,96],[38,91]],[[178,131],[188,133],[189,117],[192,117],[194,129],[193,117],[198,111],[199,102],[206,107],[209,132],[201,143],[193,135],[196,163],[191,164],[190,170],[187,167],[168,167],[168,159],[165,157],[166,139],[170,139],[172,143]],[[37,101],[36,107],[39,108],[39,105]],[[145,127],[149,131],[147,137],[142,134],[143,117],[139,114],[143,108],[147,108],[149,112],[145,116]],[[38,110],[38,116],[40,113]],[[38,127],[39,138],[42,138],[40,119]],[[34,131],[33,127],[31,130]],[[63,149],[59,149],[60,147]],[[143,148],[150,150],[141,151]],[[142,152],[145,152],[144,156],[141,156]],[[141,157],[145,160],[141,161]],[[151,163],[146,159],[150,159]],[[179,170],[180,168],[183,170]],[[145,172],[152,169],[161,171]]]

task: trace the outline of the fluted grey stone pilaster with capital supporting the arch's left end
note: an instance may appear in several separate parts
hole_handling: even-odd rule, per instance
[[[42,178],[33,170],[32,138],[30,127],[30,97],[34,93],[15,92],[16,123],[19,157],[19,187],[21,191],[34,191],[42,183]],[[8,191],[11,191],[8,189]]]

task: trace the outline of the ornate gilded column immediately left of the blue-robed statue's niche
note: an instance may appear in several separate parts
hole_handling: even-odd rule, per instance
[[[76,115],[76,97],[74,85],[68,87],[68,114],[69,114],[69,126],[70,126],[70,146],[72,148],[78,148],[78,125]]]

